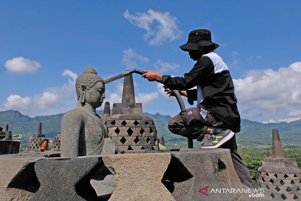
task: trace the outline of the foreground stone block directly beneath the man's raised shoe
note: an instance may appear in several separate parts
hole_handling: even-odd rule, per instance
[[[237,200],[240,196],[244,196],[241,193],[210,193],[216,188],[247,188],[241,184],[234,170],[230,150],[206,149],[170,152],[170,154],[171,162],[162,182],[175,200],[225,201]],[[207,186],[209,196],[199,192]],[[245,199],[240,198],[240,200]],[[247,200],[252,199],[247,196]]]

